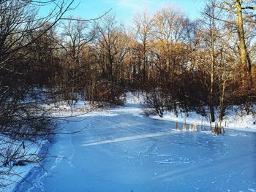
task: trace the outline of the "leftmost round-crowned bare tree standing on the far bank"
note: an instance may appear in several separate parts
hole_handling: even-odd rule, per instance
[[[66,95],[67,102],[73,104],[77,99],[78,88],[82,87],[85,80],[86,61],[83,61],[83,53],[90,42],[94,40],[94,26],[82,19],[69,18],[62,23],[63,32],[61,38],[61,48],[64,50],[63,62],[64,70],[60,82],[64,82],[61,92]],[[60,84],[59,84],[60,85]],[[70,96],[69,96],[70,94]]]

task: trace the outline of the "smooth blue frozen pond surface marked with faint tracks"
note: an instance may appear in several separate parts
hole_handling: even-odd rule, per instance
[[[86,129],[57,135],[14,191],[256,191],[256,133],[176,131],[138,101],[63,120],[64,131]]]

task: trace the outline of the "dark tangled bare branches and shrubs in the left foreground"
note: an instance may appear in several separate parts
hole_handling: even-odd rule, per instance
[[[72,2],[0,1],[0,167],[8,166],[1,169],[1,179],[5,174],[13,174],[12,167],[19,160],[38,162],[39,158],[23,141],[36,142],[52,131],[47,110],[40,107],[47,100],[47,93],[36,89],[32,79],[28,83],[30,72],[35,69],[28,67],[32,58],[28,50],[56,25]],[[39,15],[39,9],[45,6],[52,9]],[[2,184],[1,180],[0,188],[8,183],[5,180]]]

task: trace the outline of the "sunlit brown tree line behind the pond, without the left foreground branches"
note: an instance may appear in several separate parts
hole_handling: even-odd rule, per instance
[[[218,107],[222,120],[228,107],[249,112],[255,102],[255,6],[206,1],[197,20],[166,6],[128,27],[111,12],[94,22],[70,17],[31,44],[27,66],[38,73],[33,82],[68,102],[115,102],[128,85],[146,91],[160,116],[196,110],[214,122]]]

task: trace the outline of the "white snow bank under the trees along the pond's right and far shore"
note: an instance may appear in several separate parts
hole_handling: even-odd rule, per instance
[[[140,116],[141,113],[143,113],[143,110],[132,110],[132,107],[138,108],[141,107],[141,105],[144,102],[143,93],[126,93],[126,104],[125,107],[129,107],[130,112],[134,112],[135,116]],[[222,126],[225,128],[231,128],[236,129],[239,131],[252,131],[256,132],[256,125],[254,122],[256,121],[256,117],[252,114],[252,112],[249,113],[249,115],[246,114],[244,110],[240,109],[241,107],[234,106],[233,110],[227,110],[226,115],[222,121]],[[256,106],[254,106],[256,108]],[[127,110],[127,109],[123,109]],[[219,114],[218,110],[215,109],[215,117],[217,119],[216,122],[218,122]],[[187,114],[185,112],[181,112],[178,114],[178,117],[174,114],[174,112],[168,112],[165,111],[163,118],[160,118],[158,115],[151,115],[151,118],[157,119],[157,120],[170,120],[177,123],[184,123],[184,120],[186,120],[187,124],[194,125],[197,123],[197,126],[212,126],[214,127],[215,123],[210,123],[211,120],[208,117],[203,117],[202,115],[198,114],[197,112],[189,112],[189,116],[187,117]]]

